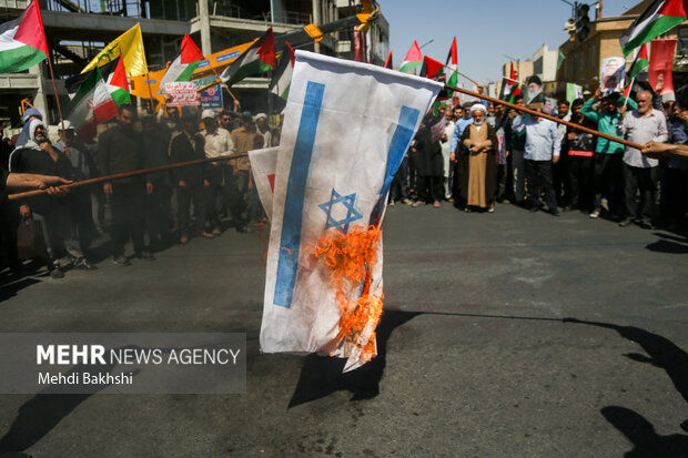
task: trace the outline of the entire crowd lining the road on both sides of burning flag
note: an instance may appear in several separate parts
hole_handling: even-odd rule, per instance
[[[650,90],[628,100],[599,91],[570,104],[561,100],[556,115],[573,125],[484,100],[462,105],[455,98],[423,119],[392,183],[389,205],[439,207],[446,201],[468,213],[493,213],[497,203],[512,203],[554,216],[580,211],[621,227],[635,223],[677,228],[685,224],[688,159],[667,159],[666,153],[675,150],[672,145],[682,149],[679,154],[688,147],[682,146],[688,144],[688,111],[680,109],[688,106],[685,92],[677,91],[678,103],[662,103]],[[523,98],[515,104],[523,106]],[[528,108],[544,110],[540,102]],[[159,116],[139,119],[134,106],[123,105],[97,141],[77,135],[64,122],[58,128],[59,141],[52,143],[41,113],[29,109],[14,144],[0,144],[0,170],[3,180],[10,172],[12,183],[47,187],[279,144],[281,126],[271,129],[263,113],[199,113],[166,106]],[[646,151],[586,128],[646,145]],[[129,241],[133,258],[153,261],[155,252],[173,243],[219,236],[226,228],[223,217],[231,217],[237,232],[266,221],[246,156],[118,177],[63,194],[51,189],[37,197],[2,203],[4,265],[22,265],[17,253],[22,221],[40,222],[53,278],[64,276],[59,259],[65,256],[72,268],[97,268],[87,253],[105,230],[105,221],[112,261],[121,266],[132,258],[124,251]]]

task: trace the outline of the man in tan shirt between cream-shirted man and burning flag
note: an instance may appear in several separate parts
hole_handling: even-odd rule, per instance
[[[244,111],[241,115],[241,126],[232,131],[232,143],[236,153],[245,154],[250,150],[255,150],[256,135],[253,116],[251,112]],[[229,179],[226,191],[230,197],[230,212],[236,231],[246,232],[247,217],[243,213],[247,210],[246,199],[251,191],[251,163],[249,157],[244,156],[234,159],[229,164],[232,166],[232,174],[225,179]]]

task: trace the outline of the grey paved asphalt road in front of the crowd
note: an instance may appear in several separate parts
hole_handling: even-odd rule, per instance
[[[384,237],[380,356],[344,376],[260,354],[255,234],[4,284],[3,332],[245,332],[249,353],[243,395],[0,396],[0,456],[688,456],[685,235],[397,205]]]

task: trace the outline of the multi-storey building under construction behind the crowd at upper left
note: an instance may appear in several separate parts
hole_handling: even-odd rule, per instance
[[[0,22],[20,17],[29,2],[0,0]],[[315,41],[300,33],[306,39],[295,47],[327,55],[354,59],[356,54],[360,60],[382,65],[388,53],[389,26],[384,16],[377,14],[370,29],[356,37],[356,47],[354,26],[343,20],[370,10],[370,1],[39,0],[39,4],[62,105],[68,101],[64,80],[79,73],[104,45],[135,23],[141,27],[150,71],[164,69],[174,60],[185,33],[209,55],[246,43],[270,27],[279,39],[315,24],[324,37]],[[249,78],[231,88],[244,109],[267,109],[270,74],[262,77]],[[51,124],[57,123],[55,90],[45,62],[23,73],[0,74],[0,122],[17,126],[22,101],[45,113]],[[232,100],[226,98],[224,104],[232,106]]]

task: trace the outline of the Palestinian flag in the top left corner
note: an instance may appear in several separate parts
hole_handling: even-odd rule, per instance
[[[48,57],[48,41],[38,1],[21,18],[0,24],[0,73],[20,72]]]

